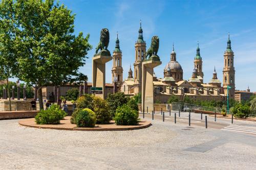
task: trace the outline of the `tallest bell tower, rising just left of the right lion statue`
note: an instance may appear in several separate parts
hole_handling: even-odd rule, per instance
[[[143,31],[139,29],[139,37],[135,42],[135,62],[134,62],[134,95],[141,92],[141,81],[142,81],[142,61],[144,59],[144,53],[146,53],[146,42],[143,40]]]

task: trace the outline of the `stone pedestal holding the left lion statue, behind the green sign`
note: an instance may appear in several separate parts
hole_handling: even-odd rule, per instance
[[[93,86],[92,87],[101,87],[101,90],[95,93],[95,96],[98,96],[102,99],[106,98],[105,91],[105,63],[112,60],[111,56],[103,56],[101,54],[96,54],[93,57]]]

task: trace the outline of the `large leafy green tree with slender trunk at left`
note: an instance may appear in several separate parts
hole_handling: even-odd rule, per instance
[[[43,109],[43,86],[81,77],[78,69],[92,48],[89,34],[74,35],[75,14],[54,0],[3,0],[0,7],[2,21],[11,23],[7,30],[13,36],[16,76],[37,86]]]

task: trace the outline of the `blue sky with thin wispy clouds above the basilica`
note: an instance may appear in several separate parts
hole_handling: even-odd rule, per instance
[[[123,77],[135,60],[135,41],[139,21],[143,37],[150,46],[151,37],[158,35],[158,55],[162,65],[155,68],[158,78],[163,77],[164,66],[170,60],[175,44],[177,61],[183,68],[183,78],[189,79],[194,68],[197,41],[203,59],[204,82],[212,78],[214,66],[222,81],[223,54],[227,34],[230,33],[236,69],[236,89],[249,85],[256,91],[256,1],[86,1],[60,0],[76,14],[76,34],[90,34],[93,50],[88,53],[86,65],[80,68],[92,82],[92,57],[99,42],[100,30],[110,31],[109,50],[115,48],[116,32],[122,50]],[[106,82],[111,82],[112,62],[106,64]]]

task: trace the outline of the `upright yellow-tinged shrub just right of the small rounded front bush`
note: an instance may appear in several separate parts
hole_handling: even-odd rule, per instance
[[[111,120],[111,113],[108,103],[98,97],[93,96],[93,111],[96,114],[97,124],[107,124]]]

